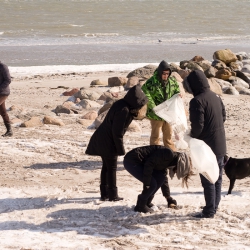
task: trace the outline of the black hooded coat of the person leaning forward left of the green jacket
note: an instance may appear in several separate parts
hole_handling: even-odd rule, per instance
[[[134,118],[131,111],[140,109],[147,102],[141,87],[132,87],[123,99],[111,106],[102,124],[90,138],[86,154],[111,157],[124,155],[123,136]]]

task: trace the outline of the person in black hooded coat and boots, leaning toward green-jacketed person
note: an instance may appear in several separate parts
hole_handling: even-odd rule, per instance
[[[121,200],[116,186],[117,157],[125,154],[123,136],[147,104],[148,99],[139,85],[132,87],[123,99],[116,101],[109,109],[104,121],[90,138],[86,154],[102,158],[100,192],[101,200]]]

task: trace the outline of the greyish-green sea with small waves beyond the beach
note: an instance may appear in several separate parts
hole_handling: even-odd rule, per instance
[[[249,0],[0,0],[9,66],[180,61],[250,52]]]

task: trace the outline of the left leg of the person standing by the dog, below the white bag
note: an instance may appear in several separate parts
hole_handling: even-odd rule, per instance
[[[213,217],[215,211],[215,185],[201,174],[200,179],[202,187],[204,189],[204,196],[206,201],[206,206],[203,208],[202,213],[206,217]]]

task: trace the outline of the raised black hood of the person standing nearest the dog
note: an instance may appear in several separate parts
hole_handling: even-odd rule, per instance
[[[210,89],[206,75],[201,70],[192,71],[185,79],[186,84],[194,96],[199,95]]]

